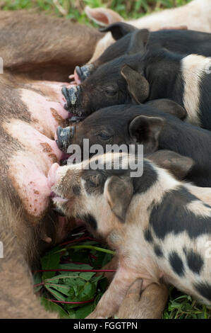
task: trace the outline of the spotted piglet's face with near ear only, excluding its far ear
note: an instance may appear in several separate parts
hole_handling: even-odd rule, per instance
[[[49,178],[56,207],[68,217],[83,220],[102,236],[126,222],[133,198],[133,179],[126,168],[127,157],[128,154],[104,154],[80,164],[53,164]],[[117,159],[121,163],[119,169],[114,168]],[[109,163],[111,167],[108,168]],[[102,167],[94,170],[94,164]]]

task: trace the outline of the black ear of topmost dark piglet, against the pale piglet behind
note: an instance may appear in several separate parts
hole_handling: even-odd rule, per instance
[[[131,24],[123,23],[123,22],[116,22],[113,24],[110,24],[109,26],[105,28],[100,28],[100,31],[102,33],[107,33],[108,31],[111,32],[112,37],[114,40],[119,40],[123,36],[127,35],[128,33],[133,33],[133,31],[137,30],[134,26],[131,26]]]

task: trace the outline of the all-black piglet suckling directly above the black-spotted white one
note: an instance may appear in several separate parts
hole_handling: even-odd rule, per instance
[[[92,113],[72,128],[59,127],[57,132],[60,140],[57,143],[64,152],[69,146],[78,145],[83,156],[87,154],[84,139],[88,140],[89,147],[100,145],[104,152],[111,149],[109,145],[143,145],[144,154],[171,150],[171,154],[179,153],[194,162],[188,174],[185,172],[185,176],[182,176],[178,161],[180,179],[197,186],[210,187],[211,133],[183,121],[186,115],[182,106],[168,99],[158,99],[140,106],[111,106]],[[164,158],[164,154],[161,154],[160,160]],[[186,164],[184,158],[183,164]],[[176,168],[174,164],[174,174]]]

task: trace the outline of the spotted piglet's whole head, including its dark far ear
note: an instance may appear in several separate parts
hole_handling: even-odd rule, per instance
[[[164,164],[170,171],[176,169],[179,178],[193,166],[191,159],[168,151],[152,154],[150,159],[157,165]],[[68,217],[83,220],[94,234],[104,238],[114,231],[118,234],[118,230],[131,223],[131,214],[133,216],[137,203],[133,197],[145,193],[159,181],[157,166],[148,159],[143,161],[143,174],[133,178],[133,162],[133,154],[107,153],[80,164],[53,164],[49,183],[52,184],[56,207]],[[138,164],[140,160],[135,162]],[[139,208],[141,211],[140,205]]]

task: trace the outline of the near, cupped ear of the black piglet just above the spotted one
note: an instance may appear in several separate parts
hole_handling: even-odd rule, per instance
[[[143,144],[144,153],[155,152],[159,142],[159,134],[164,126],[164,119],[138,115],[129,125],[129,133],[133,141]]]

